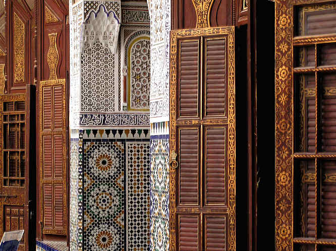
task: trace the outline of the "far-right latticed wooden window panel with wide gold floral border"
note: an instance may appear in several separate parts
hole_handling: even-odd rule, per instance
[[[275,10],[275,247],[335,250],[336,1]]]

